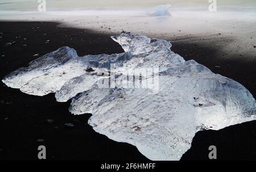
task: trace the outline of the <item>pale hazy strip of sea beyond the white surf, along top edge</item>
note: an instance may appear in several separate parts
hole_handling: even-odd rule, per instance
[[[208,0],[46,0],[47,10],[69,10],[69,9],[105,9],[122,7],[150,7],[156,5],[170,4],[172,9],[208,9]],[[0,11],[14,10],[37,10],[39,2],[37,0],[1,0]],[[217,7],[225,10],[254,10],[256,9],[255,0],[217,0]]]

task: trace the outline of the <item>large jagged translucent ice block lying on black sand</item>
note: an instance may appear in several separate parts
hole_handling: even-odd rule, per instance
[[[72,99],[72,114],[91,113],[94,131],[137,146],[150,160],[180,160],[197,131],[256,119],[244,86],[185,61],[170,41],[130,32],[112,39],[125,52],[79,57],[61,47],[2,81],[27,94]]]

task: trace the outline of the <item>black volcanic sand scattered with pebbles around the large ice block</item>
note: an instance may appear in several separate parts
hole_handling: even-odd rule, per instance
[[[0,32],[3,33],[0,35],[0,56],[5,55],[0,57],[0,77],[27,66],[30,61],[63,45],[75,48],[79,56],[123,52],[110,39],[110,35],[77,28],[60,28],[57,24],[0,22]],[[50,40],[49,44],[46,44],[46,40]],[[10,47],[4,46],[13,41],[16,43]],[[225,52],[219,52],[200,41],[195,45],[195,42],[177,39],[172,44],[172,51],[186,60],[194,59],[214,73],[240,82],[255,97],[256,59],[245,61],[235,57],[233,60],[221,58],[216,54]],[[39,56],[34,57],[36,53]],[[216,65],[221,68],[214,67]],[[46,146],[48,160],[147,160],[135,146],[115,142],[94,132],[87,124],[90,114],[71,115],[68,111],[70,101],[58,103],[54,94],[44,97],[27,95],[2,82],[0,91],[0,160],[38,160],[39,145]],[[48,124],[47,119],[54,121]],[[65,123],[73,123],[75,127],[64,128]],[[181,160],[208,160],[210,145],[217,146],[217,160],[256,160],[255,132],[256,121],[233,125],[220,131],[200,131],[196,133],[191,149]],[[44,142],[38,142],[38,139]]]

